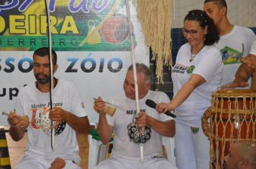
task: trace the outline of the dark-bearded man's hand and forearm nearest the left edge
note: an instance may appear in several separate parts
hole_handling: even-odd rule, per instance
[[[22,120],[14,112],[11,112],[8,117],[8,122],[10,125],[9,134],[11,135],[12,140],[22,140],[22,138],[24,137],[24,133],[26,132],[26,124],[24,123],[24,120]]]

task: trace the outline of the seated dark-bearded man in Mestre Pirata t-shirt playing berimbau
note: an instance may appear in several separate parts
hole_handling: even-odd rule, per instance
[[[17,169],[81,168],[76,132],[88,132],[88,117],[76,87],[63,79],[53,78],[52,109],[50,109],[50,71],[58,69],[57,54],[52,50],[50,70],[49,49],[42,47],[33,54],[36,82],[24,87],[17,97],[16,113],[8,117],[9,133],[14,141],[24,137],[27,127],[27,148]],[[27,117],[27,121],[24,118]],[[50,120],[55,121],[50,126]],[[27,123],[27,124],[26,124]],[[55,127],[54,148],[51,148],[51,127]]]

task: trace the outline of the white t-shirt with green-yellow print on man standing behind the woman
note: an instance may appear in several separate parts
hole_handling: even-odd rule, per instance
[[[224,63],[224,74],[221,85],[228,84],[234,80],[234,74],[241,64],[239,58],[246,57],[249,54],[252,42],[255,39],[256,36],[251,29],[235,25],[232,32],[220,36],[219,42],[214,44],[221,51],[222,61]],[[243,46],[244,53],[242,54]]]

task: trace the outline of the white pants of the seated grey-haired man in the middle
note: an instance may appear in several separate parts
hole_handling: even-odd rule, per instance
[[[164,158],[151,158],[145,157],[143,163],[140,162],[140,158],[126,158],[119,155],[111,155],[111,158],[104,160],[96,169],[155,169],[155,168],[168,168],[177,169],[170,163],[170,161]]]

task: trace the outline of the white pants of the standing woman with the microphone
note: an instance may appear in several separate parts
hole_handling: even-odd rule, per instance
[[[205,169],[209,168],[208,137],[201,127],[198,132],[192,132],[191,126],[175,123],[175,153],[178,169]]]

